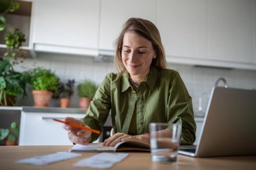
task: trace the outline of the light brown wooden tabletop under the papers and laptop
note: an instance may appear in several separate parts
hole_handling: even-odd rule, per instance
[[[45,166],[19,165],[14,161],[25,159],[38,155],[46,155],[59,151],[68,151],[71,146],[0,146],[0,169],[1,170],[30,170],[30,169],[47,169],[47,170],[65,170],[65,169],[86,169],[75,168],[73,164],[81,159],[96,155],[97,153],[81,153],[82,157],[53,163]],[[256,156],[250,157],[212,157],[212,158],[193,158],[179,155],[179,160],[174,164],[153,163],[150,153],[129,153],[121,163],[115,164],[110,169],[232,169],[232,170],[254,170],[256,169]]]

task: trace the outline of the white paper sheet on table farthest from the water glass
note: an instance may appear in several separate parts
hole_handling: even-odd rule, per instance
[[[55,163],[75,157],[80,157],[81,154],[78,153],[69,153],[69,152],[58,152],[49,155],[42,155],[37,157],[32,157],[28,159],[21,159],[15,161],[15,163],[19,164],[31,164],[31,165],[49,165],[50,163]]]

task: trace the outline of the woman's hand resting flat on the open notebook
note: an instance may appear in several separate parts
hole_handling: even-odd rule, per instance
[[[110,136],[103,142],[103,146],[115,146],[119,142],[125,142],[125,141],[130,141],[130,140],[140,140],[142,142],[148,142],[150,143],[150,140],[148,138],[147,134],[140,134],[140,135],[129,135],[125,133],[116,133],[113,136]]]

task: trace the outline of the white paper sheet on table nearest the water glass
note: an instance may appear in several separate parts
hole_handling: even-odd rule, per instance
[[[122,161],[128,155],[128,153],[100,153],[93,157],[78,161],[74,166],[106,169],[112,167],[115,163]]]

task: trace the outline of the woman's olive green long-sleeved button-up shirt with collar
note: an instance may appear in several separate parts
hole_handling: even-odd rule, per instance
[[[136,108],[135,108],[136,107]],[[137,134],[149,132],[150,122],[181,123],[181,144],[195,141],[195,120],[192,99],[177,71],[151,67],[136,91],[129,82],[129,73],[109,73],[96,91],[84,124],[102,130],[111,112],[115,132],[129,134],[133,112]],[[92,134],[92,141],[98,138]],[[91,142],[92,142],[91,141]]]

